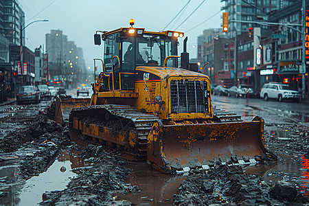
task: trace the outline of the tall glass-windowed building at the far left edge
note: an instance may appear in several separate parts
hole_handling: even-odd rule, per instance
[[[0,96],[14,97],[21,85],[17,65],[21,60],[20,47],[11,51],[11,46],[21,45],[21,34],[25,36],[25,13],[17,0],[0,0]],[[3,87],[3,88],[2,88]],[[16,88],[17,87],[17,88]]]

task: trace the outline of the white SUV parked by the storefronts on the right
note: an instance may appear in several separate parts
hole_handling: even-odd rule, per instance
[[[262,87],[260,97],[268,101],[269,98],[277,99],[279,102],[283,100],[299,101],[300,95],[298,91],[290,89],[286,84],[267,83]]]

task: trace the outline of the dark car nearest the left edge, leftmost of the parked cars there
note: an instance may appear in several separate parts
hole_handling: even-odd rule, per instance
[[[17,104],[35,102],[41,102],[40,91],[34,86],[23,86],[19,89],[19,92],[16,94]]]

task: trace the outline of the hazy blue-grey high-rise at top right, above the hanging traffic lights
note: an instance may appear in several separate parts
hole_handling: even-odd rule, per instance
[[[225,6],[221,10],[229,12],[229,36],[247,32],[252,23],[236,23],[231,21],[262,21],[268,20],[275,10],[279,10],[301,0],[221,0],[225,1]]]

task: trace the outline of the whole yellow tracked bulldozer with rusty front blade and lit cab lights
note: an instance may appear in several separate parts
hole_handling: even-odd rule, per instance
[[[148,32],[133,23],[95,32],[95,45],[104,41],[104,58],[94,59],[89,106],[69,114],[71,139],[111,146],[125,159],[147,160],[170,174],[207,170],[218,161],[235,165],[255,163],[256,157],[275,159],[264,141],[262,118],[244,122],[211,104],[209,77],[189,63],[187,38],[177,56],[183,36]]]

